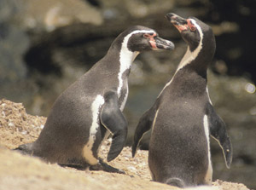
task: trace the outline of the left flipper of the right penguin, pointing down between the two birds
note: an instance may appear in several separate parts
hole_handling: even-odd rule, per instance
[[[155,112],[156,109],[154,105],[154,107],[151,107],[147,112],[144,112],[142,118],[140,118],[140,121],[137,124],[137,128],[134,133],[133,145],[131,147],[132,157],[135,156],[137,152],[137,146],[143,138],[144,133],[151,129],[154,121]]]

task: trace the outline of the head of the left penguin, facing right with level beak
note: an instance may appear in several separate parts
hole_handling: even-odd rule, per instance
[[[145,26],[131,26],[122,32],[116,40],[122,40],[122,49],[141,53],[148,50],[174,49],[174,44],[159,37],[153,29]]]

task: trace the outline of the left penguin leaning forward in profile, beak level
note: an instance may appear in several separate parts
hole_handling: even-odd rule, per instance
[[[107,55],[56,99],[38,139],[15,150],[49,163],[123,173],[104,163],[98,150],[109,134],[113,137],[108,162],[125,146],[127,122],[122,111],[131,63],[139,53],[158,49],[174,49],[174,44],[145,26],[120,33]]]

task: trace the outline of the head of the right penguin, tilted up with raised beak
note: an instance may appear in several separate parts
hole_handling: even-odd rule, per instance
[[[188,43],[191,52],[197,48],[201,48],[200,46],[203,45],[202,42],[204,38],[207,38],[208,42],[210,40],[214,41],[215,44],[212,28],[201,20],[195,17],[184,19],[173,13],[166,14],[166,18],[177,28],[178,32],[180,32],[183,40]]]

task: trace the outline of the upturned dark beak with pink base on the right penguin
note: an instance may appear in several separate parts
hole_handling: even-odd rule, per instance
[[[173,26],[175,26],[178,32],[184,32],[189,30],[188,20],[183,19],[177,14],[168,13],[166,19],[169,20]]]

